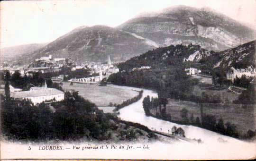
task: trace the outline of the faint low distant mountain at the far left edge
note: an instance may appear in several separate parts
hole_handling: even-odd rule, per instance
[[[1,60],[8,61],[14,59],[17,56],[31,53],[42,47],[46,46],[46,43],[32,43],[27,45],[12,46],[0,49]]]

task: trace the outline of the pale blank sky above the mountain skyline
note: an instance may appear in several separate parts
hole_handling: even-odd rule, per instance
[[[176,5],[212,8],[256,28],[256,0],[28,0],[0,2],[0,48],[52,42],[74,28],[115,27]]]

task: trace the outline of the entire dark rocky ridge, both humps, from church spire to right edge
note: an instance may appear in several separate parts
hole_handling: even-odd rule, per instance
[[[141,66],[152,68],[167,68],[168,66],[182,68],[200,68],[202,71],[212,71],[222,67],[228,70],[230,67],[247,68],[256,67],[255,64],[256,40],[244,43],[235,48],[225,51],[208,51],[200,45],[170,45],[127,60],[119,65],[121,70],[131,70]]]

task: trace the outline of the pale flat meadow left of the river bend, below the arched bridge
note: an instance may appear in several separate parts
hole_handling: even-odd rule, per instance
[[[79,91],[83,98],[95,103],[97,106],[109,106],[110,102],[122,103],[130,98],[137,96],[136,91],[112,88],[108,86],[77,84],[70,85],[69,82],[63,82],[63,89]]]

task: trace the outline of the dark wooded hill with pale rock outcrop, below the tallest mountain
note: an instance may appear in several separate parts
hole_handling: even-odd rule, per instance
[[[120,63],[119,68],[126,71],[142,66],[162,69],[168,66],[175,66],[175,68],[187,66],[187,68],[190,68],[190,65],[198,64],[202,58],[206,58],[214,53],[214,51],[201,48],[200,45],[170,45],[147,51],[142,55]]]

